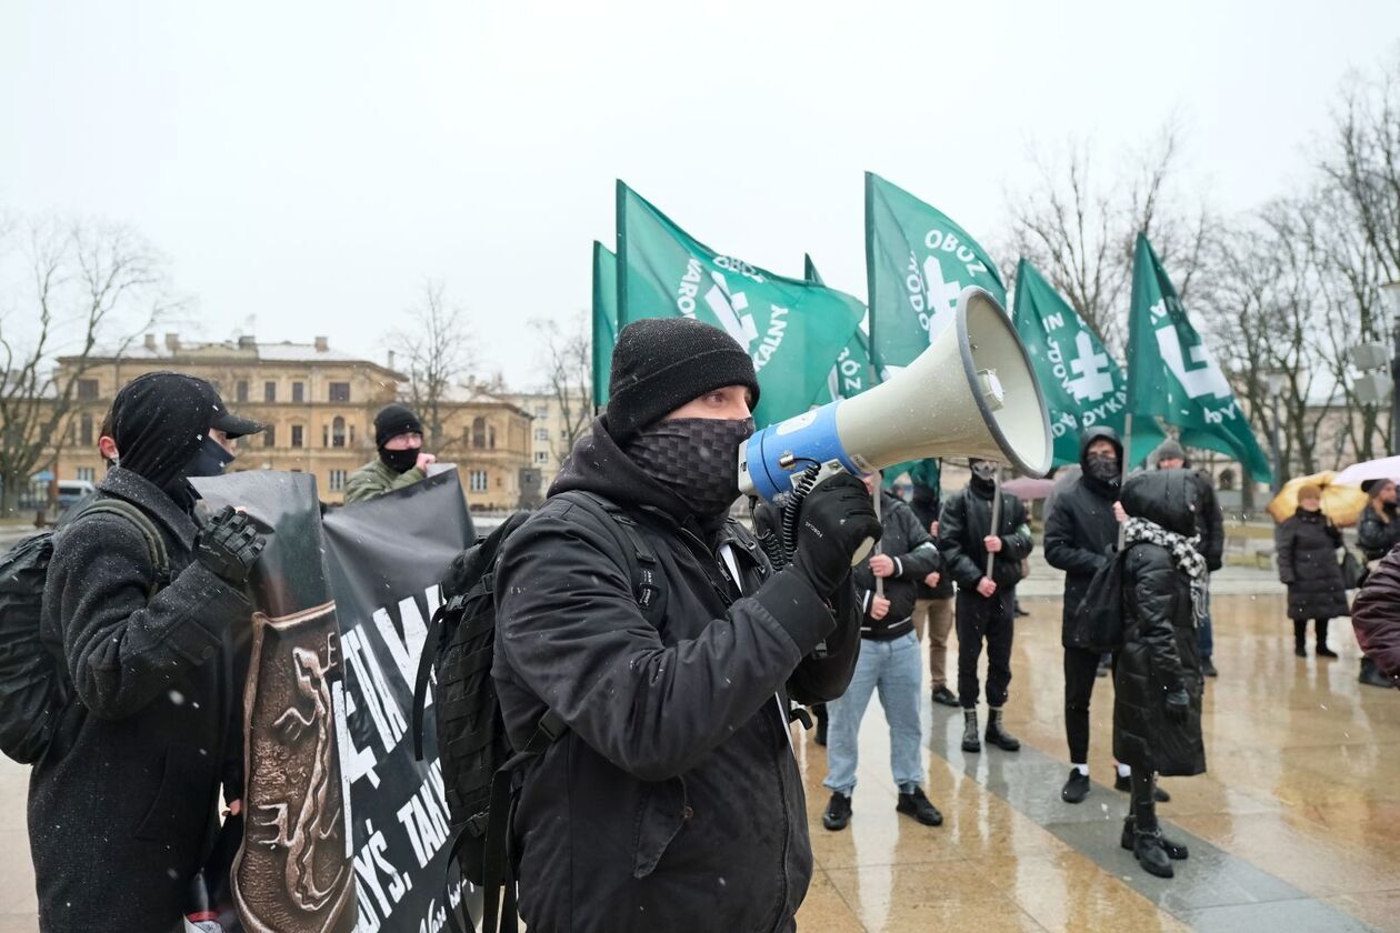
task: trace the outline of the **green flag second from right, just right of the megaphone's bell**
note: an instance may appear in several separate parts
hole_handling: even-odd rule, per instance
[[[1123,369],[1079,313],[1025,259],[1016,266],[1012,319],[1050,408],[1056,466],[1079,462],[1085,428],[1113,428],[1121,438],[1127,414]],[[1151,445],[1162,439],[1155,421],[1140,421],[1133,429],[1142,435],[1134,438],[1134,446],[1140,439]]]

